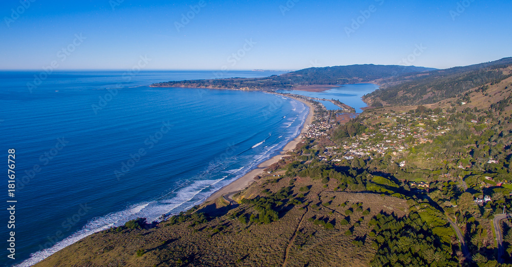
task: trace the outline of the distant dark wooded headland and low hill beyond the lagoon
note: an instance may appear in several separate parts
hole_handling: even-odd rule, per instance
[[[338,85],[371,82],[435,70],[417,66],[398,65],[350,65],[326,68],[309,68],[300,71],[272,75],[264,78],[228,78],[208,80],[185,80],[154,83],[153,87],[222,88],[237,90],[293,89],[306,85]]]

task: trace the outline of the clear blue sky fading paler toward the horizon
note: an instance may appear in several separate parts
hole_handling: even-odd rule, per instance
[[[201,1],[4,0],[0,69],[128,69],[140,56],[146,69],[450,68],[512,56],[510,0],[295,1],[206,0],[194,12]]]

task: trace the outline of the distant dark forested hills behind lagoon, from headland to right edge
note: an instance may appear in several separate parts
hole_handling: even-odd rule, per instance
[[[327,90],[329,85],[375,83],[380,85],[379,90],[365,96],[365,101],[372,105],[418,105],[457,97],[471,88],[498,83],[510,76],[512,57],[445,70],[364,64],[308,68],[264,78],[168,81],[151,86],[271,91],[293,90],[310,85],[318,85],[321,90]]]

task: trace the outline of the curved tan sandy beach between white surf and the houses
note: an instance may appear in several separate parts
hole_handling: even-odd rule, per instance
[[[306,121],[304,122],[301,134],[298,135],[292,141],[290,141],[288,144],[286,144],[279,155],[275,155],[274,157],[268,159],[267,161],[260,163],[260,165],[258,165],[258,168],[249,171],[244,176],[240,177],[239,179],[237,179],[237,180],[231,182],[230,184],[224,186],[223,188],[219,189],[217,192],[210,195],[206,199],[205,203],[215,201],[217,198],[219,198],[223,195],[230,195],[230,194],[238,193],[238,192],[246,189],[247,187],[249,187],[249,185],[251,185],[255,181],[254,176],[262,174],[264,169],[266,169],[270,165],[280,161],[281,158],[287,157],[286,153],[288,151],[295,149],[297,144],[302,142],[301,137],[303,136],[305,130],[308,128],[307,126],[313,122],[314,107],[309,102],[306,102],[302,99],[298,99],[298,98],[294,98],[294,97],[290,97],[290,96],[286,96],[286,97],[293,98],[297,101],[301,101],[309,107],[309,114],[308,114],[308,117],[306,118]]]

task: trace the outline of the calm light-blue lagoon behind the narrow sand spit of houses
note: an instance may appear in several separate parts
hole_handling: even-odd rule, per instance
[[[361,97],[369,94],[378,89],[378,85],[373,83],[358,83],[358,84],[345,84],[340,85],[339,87],[334,87],[330,90],[326,90],[324,92],[306,92],[306,91],[297,91],[297,90],[279,90],[277,92],[280,93],[290,93],[303,95],[308,97],[315,98],[324,98],[324,99],[334,99],[339,100],[353,108],[355,108],[356,113],[361,113],[361,107],[367,106],[367,104],[361,100]],[[336,105],[327,101],[322,102],[327,109],[335,110],[338,109]]]

